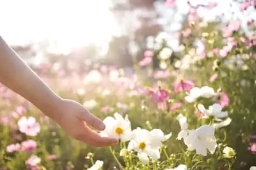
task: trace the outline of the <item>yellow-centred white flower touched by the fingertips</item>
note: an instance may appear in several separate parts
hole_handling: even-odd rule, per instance
[[[123,118],[119,113],[113,117],[106,117],[103,121],[106,128],[101,132],[102,136],[109,136],[120,139],[123,142],[130,140],[132,137],[131,122],[128,115]]]

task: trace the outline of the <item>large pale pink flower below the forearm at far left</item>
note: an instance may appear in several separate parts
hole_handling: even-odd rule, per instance
[[[18,128],[20,132],[25,133],[28,136],[37,136],[37,133],[40,132],[40,124],[39,122],[36,122],[34,117],[21,117],[18,121]]]

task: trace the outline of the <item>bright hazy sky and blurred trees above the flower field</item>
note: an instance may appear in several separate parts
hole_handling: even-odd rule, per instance
[[[159,48],[157,36],[167,40],[166,45],[178,58],[183,47],[179,32],[188,28],[188,21],[198,18],[202,18],[200,26],[204,27],[207,21],[224,26],[240,19],[243,32],[249,36],[247,25],[256,13],[253,6],[242,13],[239,9],[244,2],[1,0],[0,33],[28,64],[36,67],[68,60],[78,69],[89,69],[95,63],[132,67],[143,58],[144,51]],[[158,66],[154,57],[153,67]]]

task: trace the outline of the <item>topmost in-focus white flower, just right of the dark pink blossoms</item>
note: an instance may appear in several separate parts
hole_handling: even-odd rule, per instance
[[[190,90],[189,95],[185,97],[185,100],[189,103],[193,103],[199,97],[211,98],[213,95],[215,95],[215,92],[211,87],[208,87],[208,86],[203,86],[201,88],[193,87]]]

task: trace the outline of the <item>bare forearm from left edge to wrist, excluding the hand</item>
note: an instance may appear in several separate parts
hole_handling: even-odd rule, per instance
[[[22,61],[1,36],[0,82],[47,114],[51,113],[51,110],[54,111],[61,101],[60,97]],[[48,116],[53,117],[54,115]]]

